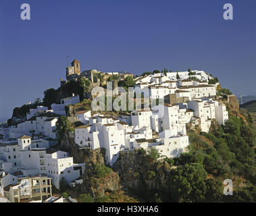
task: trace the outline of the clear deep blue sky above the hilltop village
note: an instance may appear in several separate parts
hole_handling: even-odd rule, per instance
[[[22,3],[29,21],[20,19]],[[223,19],[225,3],[232,21]],[[0,119],[58,88],[66,55],[82,70],[205,70],[235,94],[256,94],[255,8],[255,0],[3,0]]]

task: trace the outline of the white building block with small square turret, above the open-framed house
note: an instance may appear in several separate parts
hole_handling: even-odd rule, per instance
[[[74,164],[68,153],[57,151],[49,153],[49,143],[31,140],[29,136],[18,138],[18,142],[0,144],[1,169],[8,173],[20,171],[22,176],[47,175],[59,187],[59,180],[65,178],[72,182],[84,173],[84,163]]]

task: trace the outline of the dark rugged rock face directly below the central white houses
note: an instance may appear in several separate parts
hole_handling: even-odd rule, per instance
[[[170,194],[172,167],[166,161],[154,162],[138,151],[121,152],[113,169],[119,173],[124,190],[147,202],[155,202],[157,192],[162,197]]]

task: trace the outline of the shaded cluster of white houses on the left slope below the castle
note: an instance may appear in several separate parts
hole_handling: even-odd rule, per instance
[[[0,194],[11,202],[35,197],[42,200],[49,196],[52,202],[59,202],[61,198],[51,197],[51,184],[59,188],[62,178],[70,186],[82,183],[80,176],[84,173],[84,163],[73,163],[73,157],[66,152],[51,151],[51,147],[57,144],[57,119],[66,115],[66,105],[79,102],[79,96],[73,94],[61,99],[58,105],[51,105],[50,110],[43,106],[30,109],[26,121],[16,126],[0,128]],[[28,179],[39,176],[50,181],[41,188],[37,186],[39,184],[29,186],[32,182]]]

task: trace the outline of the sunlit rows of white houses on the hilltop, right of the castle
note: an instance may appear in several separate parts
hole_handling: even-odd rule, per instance
[[[192,73],[193,75],[189,75]],[[179,79],[176,76],[180,77]],[[216,86],[208,84],[212,76],[203,71],[177,72],[166,74],[150,74],[135,78],[136,92],[149,92],[151,99],[161,99],[172,94],[186,101],[191,99],[201,99],[203,97],[214,97]],[[176,103],[176,101],[168,101]]]

